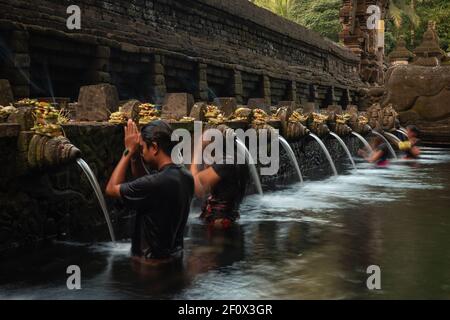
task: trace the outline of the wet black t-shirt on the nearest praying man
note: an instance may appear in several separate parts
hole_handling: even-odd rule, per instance
[[[194,196],[194,179],[170,164],[158,173],[120,186],[125,203],[136,209],[132,254],[167,258],[183,248],[183,233]]]

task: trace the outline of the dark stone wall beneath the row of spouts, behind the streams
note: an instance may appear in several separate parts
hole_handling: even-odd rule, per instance
[[[1,131],[1,128],[0,128]],[[83,152],[83,158],[105,188],[123,151],[123,129],[109,124],[71,124],[64,126],[67,137]],[[358,140],[345,138],[353,154]],[[324,139],[336,163],[347,162],[346,155],[334,139]],[[0,255],[18,246],[34,245],[40,240],[65,235],[72,240],[108,238],[103,214],[94,192],[76,164],[45,172],[18,176],[15,146],[18,136],[0,137]],[[292,144],[306,176],[322,168],[331,172],[316,142],[305,138]],[[262,177],[267,192],[295,182],[296,173],[284,150],[280,148],[281,167],[275,176]],[[252,188],[249,189],[252,192]],[[123,229],[123,219],[130,212],[120,200],[107,199],[116,231]],[[125,219],[126,221],[128,219]],[[127,235],[128,229],[119,234]]]

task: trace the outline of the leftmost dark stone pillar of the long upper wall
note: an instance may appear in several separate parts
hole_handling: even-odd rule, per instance
[[[31,58],[28,40],[29,34],[25,30],[15,30],[11,34],[11,54],[5,71],[16,99],[30,96]]]

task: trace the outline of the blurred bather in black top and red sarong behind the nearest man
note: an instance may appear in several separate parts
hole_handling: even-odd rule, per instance
[[[202,142],[198,146],[206,147],[208,142],[203,139]],[[200,199],[207,197],[200,218],[212,228],[228,229],[240,218],[239,206],[246,191],[248,168],[236,164],[234,155],[225,155],[223,164],[214,163],[199,169],[202,154],[202,150],[196,150],[191,165],[195,194]]]

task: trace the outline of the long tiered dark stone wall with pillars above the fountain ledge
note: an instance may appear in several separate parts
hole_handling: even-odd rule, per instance
[[[326,106],[340,102],[334,90],[355,103],[362,85],[359,58],[349,50],[247,0],[77,5],[82,29],[69,31],[66,1],[0,0],[0,78],[10,80],[16,98],[75,99],[82,85],[110,82],[121,99],[156,102],[174,91],[197,100],[233,96],[239,103],[256,95],[315,101],[331,91],[317,98]],[[272,95],[271,83],[281,81],[287,92]],[[307,95],[297,90],[304,87]]]

